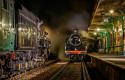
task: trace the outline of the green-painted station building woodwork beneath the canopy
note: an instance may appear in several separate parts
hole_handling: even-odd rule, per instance
[[[121,34],[122,36],[120,37],[120,45],[121,46],[121,50],[118,50],[118,54],[119,55],[125,55],[125,51],[123,51],[123,48],[124,48],[124,32],[123,32],[123,28],[124,28],[124,17],[123,16],[115,16],[115,17],[108,17],[108,22],[104,22],[104,24],[101,26],[101,28],[103,30],[101,30],[100,32],[98,32],[98,36],[101,38],[101,39],[106,39],[106,42],[103,43],[104,48],[105,49],[105,52],[108,53],[109,51],[111,50],[116,50],[117,49],[117,45],[116,45],[116,32],[115,32],[115,29],[117,29],[119,26],[118,26],[118,21],[119,23],[122,25],[122,31],[121,31]],[[111,33],[113,33],[113,40],[110,40],[111,38]],[[113,41],[113,46],[111,46],[111,41]],[[114,49],[111,49],[111,48],[114,48]],[[114,52],[112,51],[112,52]]]

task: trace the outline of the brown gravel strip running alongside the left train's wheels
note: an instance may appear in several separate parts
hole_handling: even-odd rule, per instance
[[[18,75],[12,76],[8,79],[2,79],[2,80],[31,80],[32,78],[36,77],[37,75],[46,72],[48,69],[50,69],[49,66],[53,65],[56,62],[57,62],[57,60],[48,61],[47,63],[45,63],[45,65],[43,67],[38,67],[38,68],[32,69],[30,71],[25,71],[23,73],[19,73]]]

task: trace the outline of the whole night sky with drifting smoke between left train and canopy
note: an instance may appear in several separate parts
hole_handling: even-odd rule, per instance
[[[51,52],[64,56],[65,39],[74,28],[87,31],[96,0],[20,0],[47,25]]]

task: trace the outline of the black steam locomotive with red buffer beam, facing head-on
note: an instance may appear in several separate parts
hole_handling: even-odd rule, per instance
[[[78,29],[67,37],[65,55],[70,61],[82,61],[87,53],[87,41],[81,36]]]

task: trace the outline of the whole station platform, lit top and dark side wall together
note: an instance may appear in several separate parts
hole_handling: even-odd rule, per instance
[[[88,53],[91,63],[105,76],[106,80],[125,80],[125,56]]]

